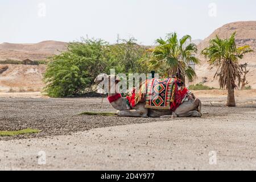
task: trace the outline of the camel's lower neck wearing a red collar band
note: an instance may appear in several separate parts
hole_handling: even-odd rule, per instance
[[[119,90],[117,88],[114,89],[113,93],[109,93],[110,98],[110,104],[114,107],[116,110],[130,110],[130,107],[127,102],[127,98],[125,97],[115,97],[118,96]]]

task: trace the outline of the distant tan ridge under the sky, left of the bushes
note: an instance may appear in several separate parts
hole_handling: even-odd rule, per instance
[[[36,44],[0,44],[0,60],[45,60],[66,49],[67,43],[44,41]]]

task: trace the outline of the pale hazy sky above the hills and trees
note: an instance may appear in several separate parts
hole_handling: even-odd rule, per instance
[[[151,45],[174,31],[204,39],[226,23],[256,20],[255,7],[255,0],[0,0],[0,43],[86,35],[114,43],[119,34]]]

